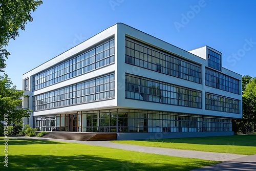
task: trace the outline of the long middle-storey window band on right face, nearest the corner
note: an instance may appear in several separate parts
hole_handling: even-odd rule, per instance
[[[125,98],[202,108],[201,91],[125,74]]]

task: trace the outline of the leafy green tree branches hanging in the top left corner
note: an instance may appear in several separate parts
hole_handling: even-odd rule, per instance
[[[0,72],[10,55],[4,47],[10,39],[19,36],[18,29],[25,30],[27,21],[32,22],[31,10],[35,11],[41,4],[41,0],[0,0]]]

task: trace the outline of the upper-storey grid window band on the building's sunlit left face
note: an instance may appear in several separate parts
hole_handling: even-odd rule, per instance
[[[115,40],[109,38],[59,65],[34,76],[34,90],[109,65],[115,59]]]

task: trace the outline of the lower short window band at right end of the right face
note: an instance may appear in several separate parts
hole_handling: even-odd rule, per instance
[[[239,114],[239,100],[206,92],[205,109]]]

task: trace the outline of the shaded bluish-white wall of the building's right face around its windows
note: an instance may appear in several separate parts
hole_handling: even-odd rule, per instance
[[[118,104],[117,104],[118,106],[124,106],[124,107],[128,107],[128,108],[137,108],[137,109],[150,109],[150,110],[172,111],[172,112],[191,113],[191,114],[200,114],[200,115],[242,118],[242,96],[241,96],[242,84],[241,84],[241,81],[240,81],[240,85],[239,85],[240,86],[240,94],[233,94],[233,93],[229,93],[226,91],[222,91],[219,89],[214,89],[214,88],[205,86],[204,68],[207,67],[207,60],[204,60],[204,59],[207,58],[206,51],[207,51],[207,48],[210,48],[210,47],[206,46],[206,47],[200,48],[201,51],[204,51],[203,53],[201,53],[200,51],[197,53],[196,50],[194,50],[195,52],[190,51],[190,53],[189,53],[185,50],[182,50],[178,47],[170,45],[170,44],[166,43],[165,41],[162,41],[156,37],[148,35],[144,32],[136,30],[127,25],[120,24],[118,29],[119,29],[118,30],[118,43],[119,43],[118,44],[119,45],[118,46],[118,56],[119,56],[119,58],[118,58],[117,62],[118,62],[118,66],[120,66],[120,67],[118,67],[117,74],[118,74],[118,82],[120,85],[125,85],[125,80],[123,79],[123,75],[125,73],[131,73],[131,74],[135,74],[135,75],[139,75],[139,76],[143,76],[143,77],[147,77],[147,78],[152,78],[155,80],[170,82],[170,83],[177,84],[177,85],[180,85],[183,87],[189,87],[192,89],[200,90],[200,91],[202,91],[202,99],[204,99],[205,92],[211,92],[214,94],[219,94],[219,95],[231,97],[234,99],[239,99],[241,107],[240,107],[239,115],[234,115],[231,113],[223,113],[223,112],[205,110],[205,100],[202,100],[202,109],[194,109],[194,108],[187,108],[187,107],[182,107],[182,106],[166,105],[166,104],[159,104],[159,103],[148,104],[148,102],[138,102],[138,101],[134,101],[131,99],[125,99],[123,89],[118,89],[118,91],[120,92],[120,93],[118,93],[118,99],[121,99],[121,100],[118,100]],[[199,65],[202,66],[202,84],[183,80],[183,79],[180,79],[177,77],[165,75],[165,74],[158,73],[155,71],[150,71],[150,70],[143,69],[143,68],[140,68],[137,66],[131,66],[131,65],[125,63],[125,61],[124,61],[125,60],[125,57],[124,57],[125,56],[125,52],[124,52],[125,35],[129,35],[130,37],[134,37],[136,39],[144,41],[147,44],[150,44],[150,45],[153,45],[160,49],[163,49],[169,53],[176,54],[182,58],[185,58],[187,60],[198,63]],[[210,48],[210,49],[212,49],[212,48]],[[198,56],[196,56],[196,55],[198,55]],[[201,56],[201,55],[204,55],[204,56]],[[242,79],[241,75],[234,73],[230,70],[227,70],[225,68],[222,68],[222,73],[229,75],[233,78],[236,78],[238,80]]]

